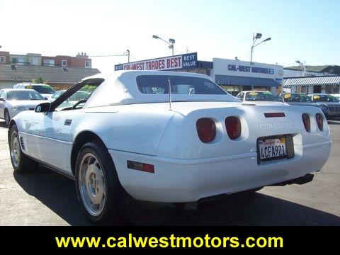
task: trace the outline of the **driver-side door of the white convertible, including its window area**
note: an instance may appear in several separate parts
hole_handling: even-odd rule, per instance
[[[101,82],[103,79],[101,79]],[[74,123],[81,118],[81,108],[72,108],[69,101],[84,86],[93,86],[80,82],[50,103],[50,111],[36,113],[30,125],[30,144],[37,145],[38,159],[67,175],[72,175],[70,154]],[[94,86],[94,90],[96,86]],[[91,95],[91,94],[90,94]],[[87,99],[87,98],[86,98]],[[79,102],[82,98],[79,98]],[[77,102],[74,102],[77,103]]]

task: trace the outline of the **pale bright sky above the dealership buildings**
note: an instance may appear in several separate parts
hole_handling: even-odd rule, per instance
[[[253,33],[271,38],[253,61],[283,66],[340,65],[340,0],[0,0],[0,50],[11,53],[123,55],[147,60],[198,52],[250,61]],[[91,57],[112,72],[128,57]]]

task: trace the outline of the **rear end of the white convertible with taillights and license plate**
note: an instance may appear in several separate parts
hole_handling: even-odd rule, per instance
[[[180,104],[155,156],[113,155],[123,187],[136,199],[193,202],[247,191],[319,171],[329,157],[319,108]]]

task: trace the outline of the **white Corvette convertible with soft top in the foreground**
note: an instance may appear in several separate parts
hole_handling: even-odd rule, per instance
[[[77,91],[89,93],[65,104]],[[8,143],[14,171],[39,162],[75,179],[94,222],[118,220],[130,197],[193,203],[306,183],[331,147],[319,108],[242,105],[205,75],[149,71],[79,81],[16,115]]]

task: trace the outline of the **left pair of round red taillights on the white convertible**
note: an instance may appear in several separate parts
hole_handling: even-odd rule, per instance
[[[231,140],[239,138],[242,132],[241,121],[237,117],[227,117],[225,119],[225,128]],[[196,122],[198,137],[202,142],[212,142],[216,137],[216,124],[210,118],[200,118]]]

